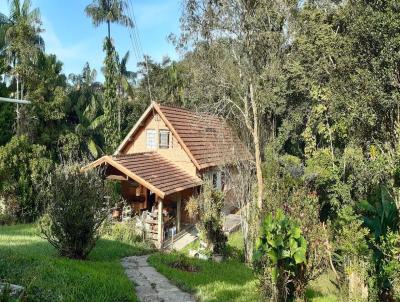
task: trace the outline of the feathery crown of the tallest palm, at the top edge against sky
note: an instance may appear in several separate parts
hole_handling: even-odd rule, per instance
[[[127,16],[128,5],[124,0],[93,0],[86,6],[86,15],[92,18],[94,26],[106,22],[108,28],[108,39],[111,39],[111,23],[118,23],[126,27],[133,27],[132,19]]]

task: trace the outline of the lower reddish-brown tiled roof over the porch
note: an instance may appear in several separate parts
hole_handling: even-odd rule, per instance
[[[128,155],[103,156],[82,168],[83,171],[100,165],[110,165],[161,198],[202,184],[192,176],[156,152]]]

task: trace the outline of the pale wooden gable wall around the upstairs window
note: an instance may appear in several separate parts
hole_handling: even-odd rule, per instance
[[[153,129],[156,130],[156,149],[147,148],[147,137],[146,130]],[[153,113],[144,121],[143,126],[141,126],[133,137],[132,142],[130,142],[123,150],[123,154],[132,154],[139,152],[149,152],[155,151],[163,155],[165,158],[169,159],[177,166],[185,170],[190,175],[196,175],[196,166],[192,163],[191,159],[187,155],[186,151],[179,144],[176,137],[170,132],[170,147],[168,149],[160,149],[158,146],[158,131],[159,130],[169,130],[165,125],[164,121],[156,114]]]

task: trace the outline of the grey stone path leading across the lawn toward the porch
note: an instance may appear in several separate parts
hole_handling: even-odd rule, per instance
[[[190,294],[181,291],[147,263],[149,256],[123,258],[121,263],[136,288],[142,302],[194,302]]]

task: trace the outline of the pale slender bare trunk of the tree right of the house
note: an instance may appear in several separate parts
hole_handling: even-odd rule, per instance
[[[263,206],[263,195],[264,195],[264,181],[261,167],[261,146],[260,146],[260,129],[258,120],[258,108],[257,102],[254,98],[253,84],[250,84],[250,101],[253,110],[253,141],[254,141],[254,152],[256,161],[256,174],[257,174],[257,206],[261,210]]]

